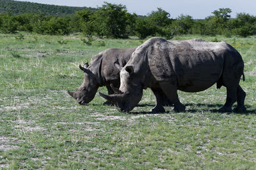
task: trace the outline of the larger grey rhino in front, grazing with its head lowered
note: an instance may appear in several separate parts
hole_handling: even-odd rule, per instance
[[[246,93],[239,85],[244,62],[241,55],[225,42],[211,43],[201,39],[166,41],[151,38],[136,48],[120,72],[120,89],[116,94],[100,96],[122,111],[131,111],[141,100],[143,89],[159,88],[174,104],[174,111],[184,111],[177,90],[200,92],[214,83],[227,88],[227,100],[221,112],[244,111]],[[244,75],[243,75],[244,79]],[[164,110],[157,103],[157,110]]]

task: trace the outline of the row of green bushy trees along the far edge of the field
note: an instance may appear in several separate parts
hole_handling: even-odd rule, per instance
[[[38,34],[68,35],[83,32],[84,36],[100,38],[128,38],[138,36],[161,36],[167,39],[181,34],[216,34],[224,36],[252,36],[256,34],[256,17],[248,13],[237,13],[231,18],[230,8],[212,11],[212,15],[202,20],[194,20],[189,15],[173,19],[161,8],[147,16],[128,13],[122,4],[104,3],[97,10],[84,9],[73,15],[52,16],[38,13],[0,15],[0,31],[36,32]]]

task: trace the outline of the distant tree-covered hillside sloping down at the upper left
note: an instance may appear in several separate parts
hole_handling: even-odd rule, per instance
[[[61,16],[71,15],[76,11],[88,9],[87,7],[58,6],[52,4],[30,3],[12,0],[0,0],[0,13],[13,15],[22,13],[44,13],[45,15]],[[95,8],[90,8],[96,10]]]

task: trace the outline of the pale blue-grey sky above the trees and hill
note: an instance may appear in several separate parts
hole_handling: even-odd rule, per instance
[[[104,0],[19,0],[42,4],[56,4],[64,6],[86,6],[97,8],[102,6]],[[157,8],[170,13],[171,18],[176,18],[180,14],[190,15],[194,19],[205,18],[212,15],[212,11],[219,8],[230,8],[231,17],[236,17],[237,13],[249,13],[256,15],[256,0],[105,0],[108,3],[123,4],[129,13],[137,15],[148,15]]]

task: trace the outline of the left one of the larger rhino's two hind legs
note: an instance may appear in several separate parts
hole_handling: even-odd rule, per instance
[[[237,86],[227,87],[227,99],[224,106],[220,108],[220,112],[232,112],[232,105],[237,100]]]

